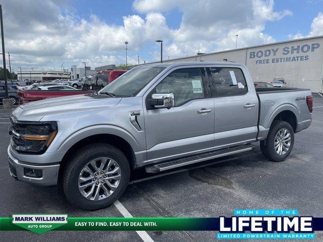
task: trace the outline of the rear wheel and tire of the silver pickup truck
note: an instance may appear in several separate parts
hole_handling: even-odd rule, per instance
[[[285,130],[286,135],[285,135]],[[283,134],[280,138],[280,134]],[[289,137],[288,137],[289,132]],[[276,139],[278,138],[278,139]],[[276,144],[275,144],[276,142]],[[288,146],[289,145],[289,146]],[[278,148],[275,148],[278,147]],[[294,131],[292,126],[282,120],[274,120],[266,140],[260,141],[260,150],[264,157],[272,161],[283,161],[291,153],[294,146]],[[280,148],[281,147],[281,148]],[[288,150],[286,150],[288,148]]]

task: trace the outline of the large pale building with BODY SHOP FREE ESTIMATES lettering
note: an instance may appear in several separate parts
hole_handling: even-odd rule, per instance
[[[248,67],[254,82],[284,78],[287,87],[323,91],[323,36],[198,54],[164,62],[183,61],[242,63]]]

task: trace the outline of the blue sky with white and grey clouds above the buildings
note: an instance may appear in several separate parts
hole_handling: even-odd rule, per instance
[[[23,70],[164,58],[323,35],[322,0],[3,0],[6,52]],[[7,56],[8,58],[8,56]],[[8,61],[7,61],[8,62]]]

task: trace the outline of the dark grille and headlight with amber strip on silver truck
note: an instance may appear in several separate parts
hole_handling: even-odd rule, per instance
[[[56,122],[13,123],[11,144],[20,152],[44,153],[58,132]]]

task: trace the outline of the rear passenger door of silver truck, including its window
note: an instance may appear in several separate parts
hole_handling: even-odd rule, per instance
[[[207,68],[215,106],[215,149],[256,140],[258,100],[241,68]]]

